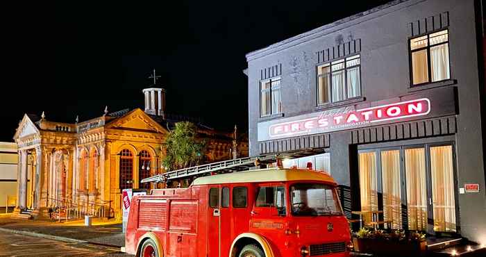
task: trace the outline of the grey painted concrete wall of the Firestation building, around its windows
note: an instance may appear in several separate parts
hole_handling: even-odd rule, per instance
[[[436,17],[432,22],[431,17]],[[451,80],[410,88],[408,39],[441,26],[449,29]],[[249,53],[249,143],[250,156],[260,153],[260,80],[265,72],[280,74],[283,115],[274,119],[318,112],[316,67],[321,51],[340,49],[348,42],[358,45],[361,56],[362,99],[359,103],[379,102],[407,94],[432,92],[433,88],[453,88],[458,114],[454,119],[458,185],[479,183],[478,194],[459,194],[460,231],[465,237],[486,242],[486,194],[483,135],[480,119],[480,77],[478,38],[473,0],[394,1],[334,24],[316,28],[265,49]],[[338,50],[339,51],[339,50]],[[346,53],[346,52],[345,52]],[[277,67],[277,69],[272,69]],[[280,69],[280,70],[279,70]],[[351,104],[351,103],[350,103]],[[448,119],[449,119],[448,118]],[[424,121],[424,123],[427,123]],[[433,122],[430,122],[432,126]],[[483,125],[485,126],[485,125]],[[433,134],[424,134],[424,138]],[[351,131],[330,133],[331,169],[339,183],[350,185],[350,174],[357,172],[350,160],[353,154]],[[420,137],[419,137],[420,138]],[[397,140],[399,138],[396,138]],[[392,138],[389,138],[392,140]],[[421,142],[426,142],[426,139]],[[336,174],[339,170],[340,174]],[[456,190],[458,190],[456,188]]]

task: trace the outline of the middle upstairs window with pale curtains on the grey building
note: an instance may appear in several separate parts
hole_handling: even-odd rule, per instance
[[[317,67],[317,105],[361,95],[360,56],[351,56]]]

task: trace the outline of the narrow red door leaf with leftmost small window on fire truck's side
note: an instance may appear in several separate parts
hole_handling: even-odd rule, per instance
[[[220,199],[221,187],[213,186],[209,188],[208,202],[208,256],[221,257],[219,251],[220,245],[220,224],[221,224],[221,206]]]

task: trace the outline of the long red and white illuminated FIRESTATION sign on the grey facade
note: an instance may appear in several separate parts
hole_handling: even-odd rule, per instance
[[[428,113],[430,113],[430,100],[421,98],[360,110],[353,108],[327,110],[315,117],[273,124],[269,126],[268,133],[270,138],[324,133],[366,125],[371,126],[376,122],[405,119],[427,115]]]

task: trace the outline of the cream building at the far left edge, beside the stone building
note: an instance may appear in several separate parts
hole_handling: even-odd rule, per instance
[[[17,144],[0,142],[0,212],[5,211],[6,207],[15,206],[17,163]]]

